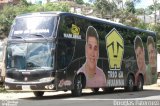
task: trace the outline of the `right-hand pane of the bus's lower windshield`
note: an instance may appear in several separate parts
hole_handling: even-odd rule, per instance
[[[27,53],[27,68],[51,68],[52,47],[51,43],[29,43]]]

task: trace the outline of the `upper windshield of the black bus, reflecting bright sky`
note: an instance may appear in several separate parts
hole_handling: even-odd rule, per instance
[[[50,37],[54,32],[56,17],[54,16],[23,16],[15,19],[10,36]]]

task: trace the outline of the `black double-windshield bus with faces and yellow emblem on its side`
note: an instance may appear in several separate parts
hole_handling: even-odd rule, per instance
[[[91,16],[38,12],[15,18],[8,36],[5,88],[33,91],[116,87],[141,91],[156,83],[156,33]]]

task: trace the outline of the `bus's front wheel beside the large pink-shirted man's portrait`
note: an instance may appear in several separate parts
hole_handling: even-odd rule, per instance
[[[74,80],[74,89],[72,90],[73,96],[81,96],[82,95],[82,79],[81,75],[75,77]]]

